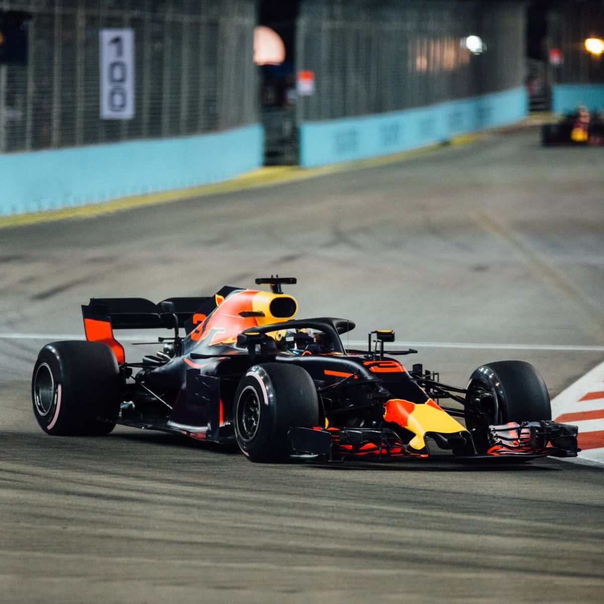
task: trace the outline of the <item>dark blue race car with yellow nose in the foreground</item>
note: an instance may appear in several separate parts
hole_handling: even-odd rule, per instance
[[[577,428],[551,421],[547,388],[522,361],[493,362],[466,388],[384,350],[345,350],[336,318],[294,320],[297,301],[224,287],[208,298],[92,299],[82,306],[88,341],[45,345],[33,371],[36,419],[48,434],[108,434],[119,423],[237,443],[251,461],[289,458],[428,458],[525,461],[577,454]],[[162,350],[126,362],[114,329],[173,329]],[[180,331],[186,335],[181,338]],[[144,342],[143,344],[157,344]],[[460,408],[435,401],[451,400]],[[455,419],[463,418],[465,425]]]

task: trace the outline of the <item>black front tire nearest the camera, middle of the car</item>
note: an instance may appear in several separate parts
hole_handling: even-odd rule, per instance
[[[297,365],[254,365],[237,388],[233,416],[237,444],[250,461],[285,461],[289,429],[319,423],[315,384]]]

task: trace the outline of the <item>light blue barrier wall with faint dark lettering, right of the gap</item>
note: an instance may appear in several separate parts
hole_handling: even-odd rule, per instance
[[[527,112],[527,92],[515,88],[387,114],[306,122],[300,127],[300,164],[312,167],[388,155],[512,124]]]

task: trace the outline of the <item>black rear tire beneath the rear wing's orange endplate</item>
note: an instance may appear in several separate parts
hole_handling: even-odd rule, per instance
[[[120,411],[121,391],[117,359],[100,342],[52,342],[40,350],[34,365],[34,414],[47,434],[109,434]]]

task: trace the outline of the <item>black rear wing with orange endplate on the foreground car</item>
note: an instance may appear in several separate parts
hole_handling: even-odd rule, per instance
[[[168,298],[174,310],[168,311],[162,303],[154,304],[144,298],[91,298],[82,306],[86,339],[103,342],[114,352],[119,363],[125,362],[124,347],[114,338],[115,329],[174,329],[195,323],[196,313],[208,303],[216,305],[214,296],[208,298]],[[205,315],[202,315],[205,316]]]

